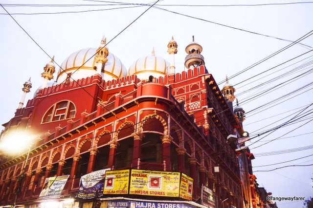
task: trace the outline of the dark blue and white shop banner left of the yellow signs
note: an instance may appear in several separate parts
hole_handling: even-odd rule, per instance
[[[80,178],[79,189],[76,198],[93,199],[103,196],[104,178],[107,170],[97,170]]]

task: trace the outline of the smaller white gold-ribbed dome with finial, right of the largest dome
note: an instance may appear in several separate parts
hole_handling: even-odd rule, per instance
[[[128,75],[137,75],[139,79],[149,79],[149,76],[164,76],[168,74],[169,62],[156,57],[154,50],[151,56],[137,59],[129,68]]]

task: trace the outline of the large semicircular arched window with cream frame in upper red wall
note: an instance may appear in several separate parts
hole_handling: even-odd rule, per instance
[[[64,100],[49,108],[43,117],[42,123],[74,118],[75,113],[76,108],[74,104],[69,100]]]

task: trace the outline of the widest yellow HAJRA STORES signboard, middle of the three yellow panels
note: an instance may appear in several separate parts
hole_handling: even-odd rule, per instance
[[[130,194],[179,197],[179,172],[132,170]]]

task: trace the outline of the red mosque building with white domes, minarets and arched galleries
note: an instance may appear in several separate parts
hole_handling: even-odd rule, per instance
[[[235,151],[240,145],[226,139],[230,134],[240,138],[244,132],[243,110],[235,109],[234,114],[232,108],[234,88],[227,82],[219,89],[195,41],[185,49],[187,70],[175,74],[177,47],[172,38],[170,62],[153,50],[126,70],[103,38],[98,48],[67,57],[55,84],[48,82],[55,76],[53,59],[48,62],[42,86],[23,107],[32,86],[30,80],[25,82],[15,116],[3,124],[1,140],[23,131],[36,135],[36,141],[28,152],[1,157],[0,205],[53,207],[45,205],[48,200],[38,200],[45,179],[69,175],[55,200],[74,199],[71,205],[63,203],[68,208],[90,203],[114,207],[110,200],[132,199],[138,202],[134,207],[145,202],[203,207],[202,186],[213,197],[206,207],[246,207],[243,189],[250,184],[243,188],[242,161]],[[158,195],[161,191],[154,196],[128,192],[97,200],[75,198],[81,176],[103,169],[184,173],[193,179],[192,198]]]

